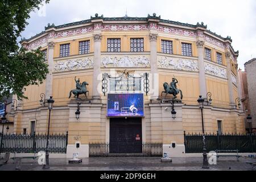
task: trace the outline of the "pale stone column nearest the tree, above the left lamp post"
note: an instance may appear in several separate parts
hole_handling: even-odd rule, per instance
[[[53,72],[53,50],[55,43],[48,42],[48,71],[49,73],[46,76],[46,100],[49,99],[49,96],[52,96],[52,72]]]

